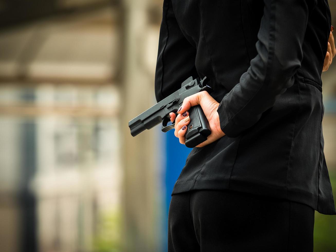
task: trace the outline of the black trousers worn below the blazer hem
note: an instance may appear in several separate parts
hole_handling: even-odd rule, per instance
[[[226,190],[197,190],[172,196],[168,252],[310,252],[313,229],[310,206]]]

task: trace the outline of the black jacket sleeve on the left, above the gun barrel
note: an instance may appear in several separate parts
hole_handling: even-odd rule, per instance
[[[155,71],[157,102],[181,88],[181,83],[188,77],[197,76],[195,57],[196,47],[183,35],[171,0],[164,0]]]

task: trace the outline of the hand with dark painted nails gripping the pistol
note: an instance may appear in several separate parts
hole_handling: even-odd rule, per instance
[[[179,108],[177,112],[178,115],[176,117],[175,113],[170,113],[170,120],[174,122],[175,120],[175,136],[179,138],[180,143],[185,144],[185,133],[186,133],[186,126],[190,123],[189,113],[188,110],[192,106],[196,106],[200,104],[202,110],[208,119],[211,134],[208,136],[208,139],[196,147],[203,147],[216,141],[217,139],[225,136],[223,131],[220,129],[219,124],[219,115],[217,112],[219,103],[210,96],[207,91],[202,91],[197,94],[193,94],[191,96],[186,97],[183,100],[182,106]],[[176,117],[176,119],[175,119]]]

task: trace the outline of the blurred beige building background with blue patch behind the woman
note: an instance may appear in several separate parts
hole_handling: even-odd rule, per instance
[[[0,251],[166,251],[191,149],[160,126],[128,128],[156,103],[162,3],[0,1]],[[334,196],[335,70],[323,73]],[[336,217],[316,212],[314,251],[336,251],[335,235]]]

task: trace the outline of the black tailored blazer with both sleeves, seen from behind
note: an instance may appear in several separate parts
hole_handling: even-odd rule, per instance
[[[206,76],[226,134],[191,151],[173,194],[228,189],[336,214],[322,134],[330,26],[327,0],[164,0],[157,101]]]

